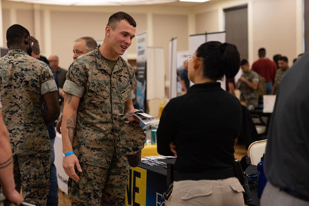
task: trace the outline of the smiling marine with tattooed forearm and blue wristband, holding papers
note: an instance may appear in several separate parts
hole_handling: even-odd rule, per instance
[[[73,205],[124,205],[131,163],[127,155],[140,155],[145,141],[138,123],[125,124],[118,116],[134,110],[134,71],[119,55],[131,45],[135,27],[129,14],[112,14],[100,48],[69,68],[61,132],[63,152],[69,152],[63,167]]]

